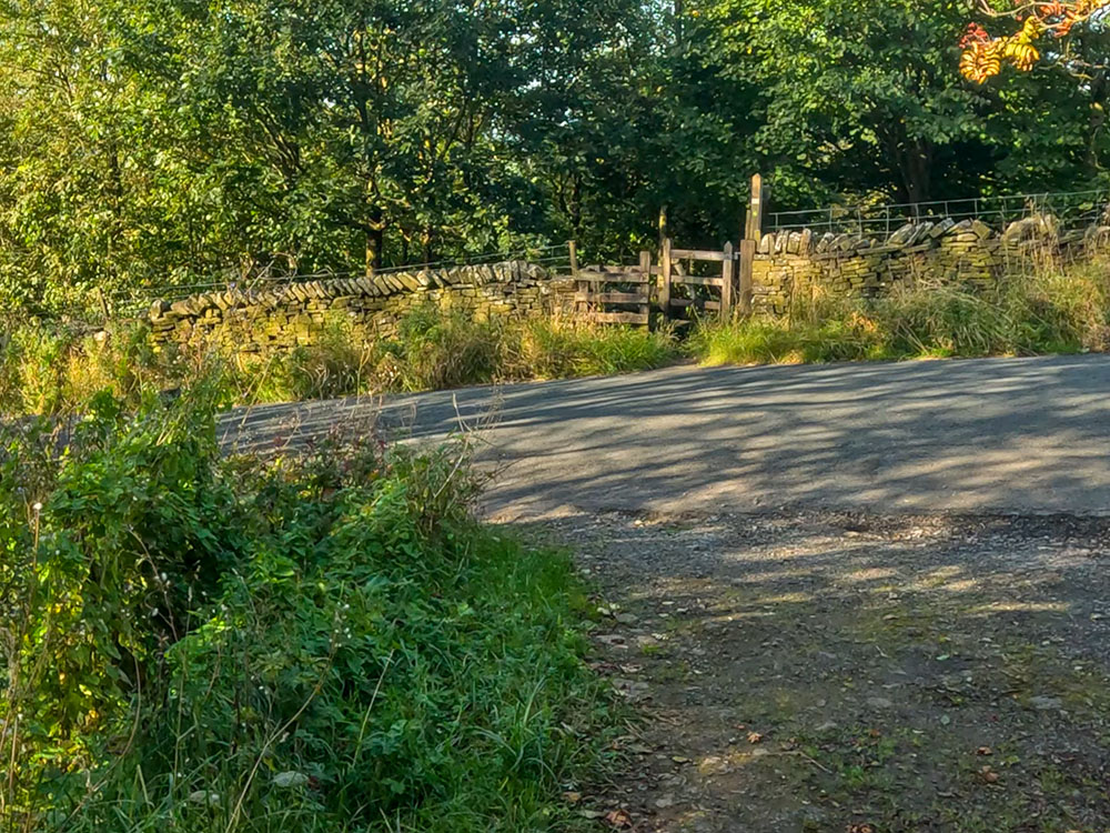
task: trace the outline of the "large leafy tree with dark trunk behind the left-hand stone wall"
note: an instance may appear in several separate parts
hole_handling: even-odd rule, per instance
[[[506,245],[534,198],[522,131],[563,118],[559,88],[619,4],[500,0],[155,0],[164,83],[260,237],[311,268]],[[153,67],[151,68],[153,69]],[[537,126],[543,126],[537,127]],[[525,210],[527,215],[528,211]]]

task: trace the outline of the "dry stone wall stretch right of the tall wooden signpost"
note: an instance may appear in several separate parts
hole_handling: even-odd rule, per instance
[[[921,280],[986,288],[1019,263],[1081,254],[1108,238],[1103,225],[1061,232],[1049,215],[1019,220],[1001,233],[979,220],[950,218],[907,223],[882,238],[783,230],[759,241],[753,311],[783,314],[796,293],[815,287],[841,297],[875,297]]]

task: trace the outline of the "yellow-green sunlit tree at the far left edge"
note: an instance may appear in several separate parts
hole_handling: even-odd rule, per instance
[[[85,0],[0,9],[0,301],[79,303],[158,269],[159,130],[110,17]]]

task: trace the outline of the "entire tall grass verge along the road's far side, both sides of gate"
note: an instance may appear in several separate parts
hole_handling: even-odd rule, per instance
[[[798,291],[787,314],[706,320],[685,343],[669,330],[569,318],[476,322],[421,308],[393,339],[367,341],[341,323],[312,344],[269,355],[155,348],[141,325],[90,334],[56,324],[0,331],[0,412],[61,413],[95,391],[144,394],[218,378],[225,404],[441,390],[467,384],[603,375],[683,354],[707,364],[1031,355],[1110,348],[1110,262],[1041,264],[997,284],[917,282],[876,299]]]

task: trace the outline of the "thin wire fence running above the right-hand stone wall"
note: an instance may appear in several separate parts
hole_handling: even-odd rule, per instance
[[[766,231],[811,229],[836,234],[889,237],[909,222],[980,220],[999,229],[1033,214],[1052,214],[1061,227],[1110,224],[1110,188],[1058,193],[1003,194],[881,205],[830,205],[768,213]]]

